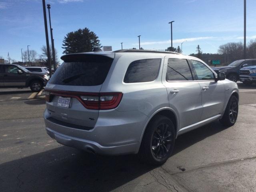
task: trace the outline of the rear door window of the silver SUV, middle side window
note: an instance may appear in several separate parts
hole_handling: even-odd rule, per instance
[[[167,81],[193,80],[190,67],[186,59],[168,59],[166,74]]]

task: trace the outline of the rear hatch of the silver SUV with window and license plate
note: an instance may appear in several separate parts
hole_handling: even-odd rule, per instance
[[[46,107],[57,124],[89,130],[98,119],[97,100],[114,53],[68,54],[46,85]]]

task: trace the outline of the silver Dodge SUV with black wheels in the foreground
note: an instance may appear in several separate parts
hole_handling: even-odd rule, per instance
[[[236,122],[237,84],[198,58],[145,50],[61,58],[46,85],[44,118],[63,145],[163,164],[180,134],[215,120]]]

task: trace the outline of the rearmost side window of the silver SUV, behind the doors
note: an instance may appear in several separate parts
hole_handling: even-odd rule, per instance
[[[161,59],[143,59],[132,62],[124,76],[125,83],[149,82],[157,77]]]

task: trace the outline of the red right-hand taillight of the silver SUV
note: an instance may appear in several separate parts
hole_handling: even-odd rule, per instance
[[[100,93],[97,96],[92,94],[80,96],[83,101],[84,107],[87,109],[113,109],[118,106],[122,99],[122,93]]]

